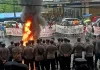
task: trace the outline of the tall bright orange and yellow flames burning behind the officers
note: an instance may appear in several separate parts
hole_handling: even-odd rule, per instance
[[[33,33],[33,20],[32,20],[32,17],[29,17],[26,21],[26,23],[24,24],[24,27],[23,27],[23,37],[22,37],[22,40],[23,40],[23,45],[26,46],[26,43],[29,41],[29,40],[34,40],[34,33]]]

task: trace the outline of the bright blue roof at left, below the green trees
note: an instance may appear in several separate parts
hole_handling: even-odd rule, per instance
[[[14,13],[0,13],[0,19],[18,18],[21,16],[21,12],[16,12],[15,15],[16,15],[16,17],[14,16]]]

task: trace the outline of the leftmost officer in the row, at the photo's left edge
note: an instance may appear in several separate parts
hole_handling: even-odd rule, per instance
[[[5,48],[5,44],[2,44],[2,53],[3,53],[3,63],[7,62],[10,57],[10,51],[8,48]]]

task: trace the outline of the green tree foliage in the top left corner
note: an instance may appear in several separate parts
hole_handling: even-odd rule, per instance
[[[0,13],[4,12],[21,12],[22,7],[20,5],[11,5],[11,4],[18,4],[18,0],[0,0]]]

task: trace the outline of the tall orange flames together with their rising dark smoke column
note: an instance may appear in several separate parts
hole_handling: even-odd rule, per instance
[[[40,14],[42,0],[20,0],[20,5],[23,6],[21,19],[25,22],[22,37],[25,46],[29,40],[36,41],[39,38],[40,26],[45,25],[45,20]]]

